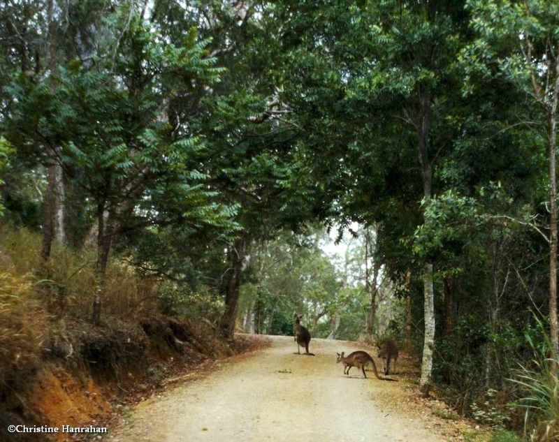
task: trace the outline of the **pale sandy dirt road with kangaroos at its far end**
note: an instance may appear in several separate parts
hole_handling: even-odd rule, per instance
[[[389,397],[402,383],[343,374],[341,341],[313,339],[294,355],[292,337],[133,408],[112,441],[444,441]],[[395,376],[398,378],[398,376]]]

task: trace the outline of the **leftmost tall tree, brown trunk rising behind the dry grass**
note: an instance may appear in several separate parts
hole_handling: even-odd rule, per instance
[[[36,126],[36,120],[29,112],[24,117],[29,120],[14,121],[13,87],[9,87],[15,69],[19,69],[30,82],[43,87],[43,94],[54,93],[57,89],[56,75],[59,64],[78,57],[89,60],[92,48],[101,38],[101,20],[109,13],[109,2],[77,3],[48,0],[4,2],[0,6],[0,33],[3,41],[0,57],[3,63],[2,89],[3,112],[8,117],[5,130],[17,147],[17,160],[32,164],[38,173],[45,173],[46,189],[43,198],[43,246],[41,258],[46,263],[52,243],[56,240],[66,244],[66,189],[68,177],[62,168],[61,140],[47,126],[57,108],[45,105],[43,127]],[[11,48],[15,50],[11,50]],[[38,88],[40,89],[40,88]],[[41,91],[36,91],[41,93]],[[20,97],[21,98],[21,97]],[[38,97],[36,97],[38,98]],[[45,97],[43,97],[45,98]],[[53,104],[53,103],[51,103]],[[62,105],[64,103],[56,103]],[[21,108],[20,108],[21,110]],[[37,112],[35,112],[37,115]],[[49,116],[50,115],[50,116]],[[10,124],[11,123],[11,124]],[[23,135],[20,140],[15,132]],[[43,168],[45,170],[43,171]]]

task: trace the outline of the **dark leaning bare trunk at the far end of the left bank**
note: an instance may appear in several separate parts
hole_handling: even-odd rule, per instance
[[[233,339],[239,302],[242,263],[245,258],[245,233],[241,233],[237,240],[235,240],[233,249],[231,249],[228,254],[229,262],[231,263],[231,272],[229,274],[229,281],[225,294],[225,311],[221,320],[221,329],[226,339]]]

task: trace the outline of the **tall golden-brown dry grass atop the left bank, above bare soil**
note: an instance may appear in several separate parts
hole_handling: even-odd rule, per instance
[[[45,357],[70,351],[68,343],[76,339],[64,324],[86,327],[90,317],[95,251],[55,247],[48,265],[42,266],[40,250],[38,233],[0,224],[0,404],[9,391],[26,388]],[[154,309],[156,290],[154,281],[140,279],[130,267],[113,260],[103,296],[106,325]],[[79,333],[80,339],[88,336]],[[74,350],[78,351],[77,344]]]

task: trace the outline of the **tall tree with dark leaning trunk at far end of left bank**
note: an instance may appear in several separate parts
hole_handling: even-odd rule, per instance
[[[196,14],[201,31],[217,35],[212,53],[226,68],[215,85],[212,110],[199,124],[208,140],[203,158],[212,189],[222,201],[238,205],[240,230],[226,247],[227,267],[222,287],[225,311],[222,333],[233,338],[242,272],[252,242],[268,241],[282,230],[296,230],[308,219],[319,196],[301,173],[297,141],[300,128],[290,119],[289,106],[279,98],[279,56],[266,17],[256,14],[259,2],[208,1]]]

